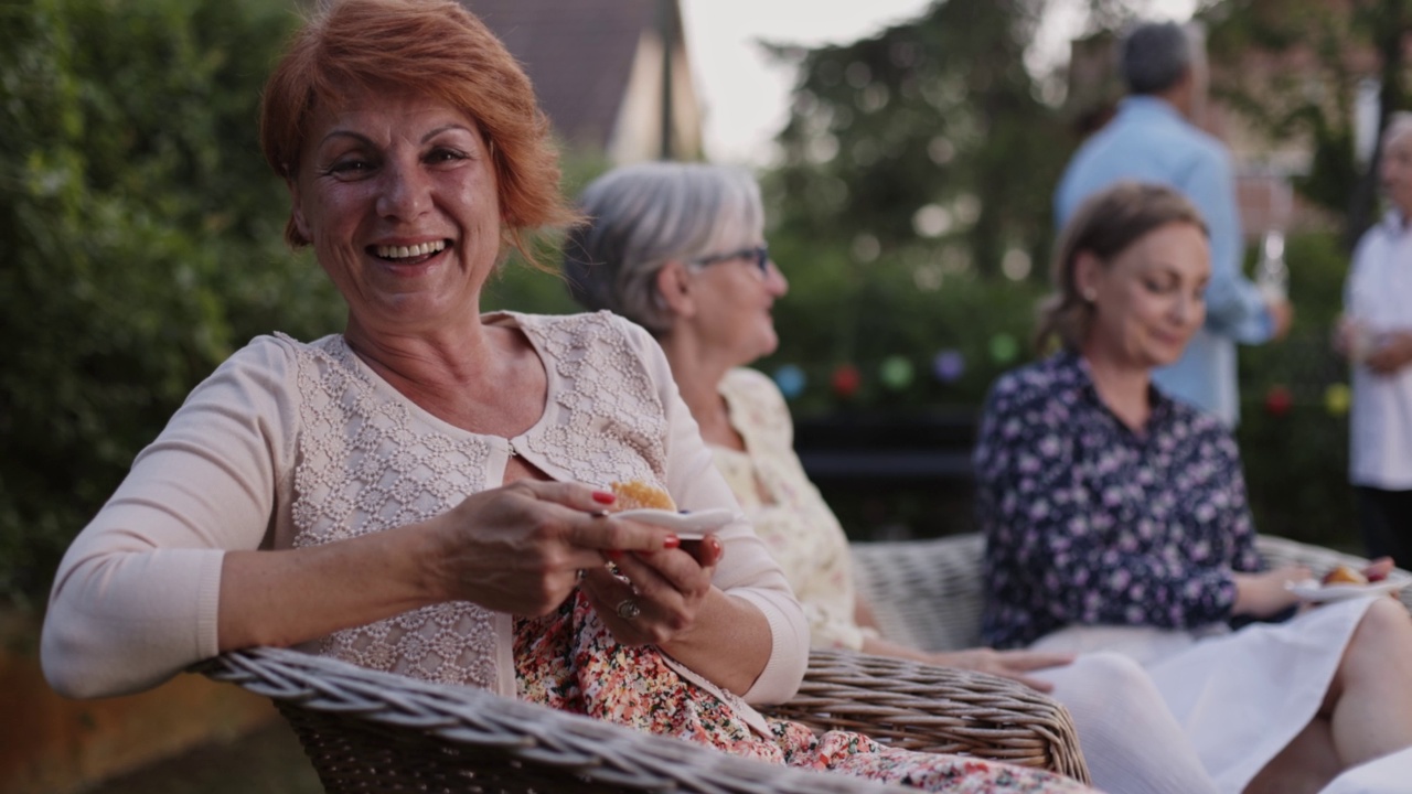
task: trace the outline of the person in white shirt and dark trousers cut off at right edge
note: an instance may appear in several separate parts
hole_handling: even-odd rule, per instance
[[[1391,206],[1353,251],[1334,348],[1353,363],[1348,480],[1370,557],[1412,559],[1412,113],[1382,133]]]

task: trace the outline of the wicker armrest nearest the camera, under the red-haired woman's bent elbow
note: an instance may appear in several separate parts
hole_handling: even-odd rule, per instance
[[[195,671],[271,698],[329,793],[899,790],[285,648],[227,653]]]

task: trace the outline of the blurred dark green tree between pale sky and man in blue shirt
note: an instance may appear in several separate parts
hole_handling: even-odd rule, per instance
[[[874,38],[798,51],[778,227],[860,263],[997,274],[1042,259],[1063,131],[1024,65],[1041,0],[947,0]],[[1019,259],[1017,259],[1019,257]]]

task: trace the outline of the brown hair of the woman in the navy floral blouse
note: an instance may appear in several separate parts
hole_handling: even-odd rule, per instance
[[[1200,211],[1173,188],[1151,182],[1117,182],[1089,196],[1059,235],[1051,263],[1053,292],[1039,304],[1035,349],[1058,342],[1079,350],[1093,325],[1094,307],[1079,294],[1075,270],[1080,253],[1108,264],[1132,243],[1168,223],[1190,223],[1210,236]]]

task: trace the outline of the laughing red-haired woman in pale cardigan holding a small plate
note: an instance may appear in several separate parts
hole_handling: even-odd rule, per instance
[[[196,386],[65,554],[55,689],[154,687],[233,648],[374,670],[929,790],[1067,793],[1041,770],[816,736],[808,624],[736,520],[698,544],[607,510],[614,483],[740,510],[661,348],[609,314],[480,314],[527,235],[576,219],[528,78],[449,0],[335,0],[261,105],[265,160],[347,304]]]

